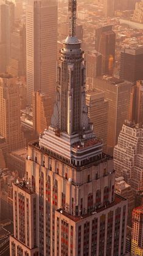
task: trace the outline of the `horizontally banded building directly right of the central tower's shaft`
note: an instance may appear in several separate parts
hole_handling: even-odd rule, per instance
[[[97,138],[103,140],[103,152],[106,152],[108,134],[108,101],[103,91],[94,90],[86,92],[86,105],[88,116],[93,124]]]

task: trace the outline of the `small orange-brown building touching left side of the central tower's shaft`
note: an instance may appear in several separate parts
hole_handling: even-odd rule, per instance
[[[48,94],[39,91],[33,94],[33,129],[39,135],[51,124],[53,99]]]

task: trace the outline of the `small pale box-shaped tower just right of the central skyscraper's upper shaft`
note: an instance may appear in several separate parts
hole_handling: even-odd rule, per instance
[[[86,51],[86,89],[94,88],[94,78],[102,75],[102,54],[96,50]]]

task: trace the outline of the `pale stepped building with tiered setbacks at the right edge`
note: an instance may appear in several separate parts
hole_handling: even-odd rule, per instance
[[[134,194],[143,190],[143,127],[126,121],[114,147],[114,170],[131,185]]]

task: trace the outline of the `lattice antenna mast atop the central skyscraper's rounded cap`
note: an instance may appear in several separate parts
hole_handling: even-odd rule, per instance
[[[76,35],[77,0],[69,0],[69,36]]]

